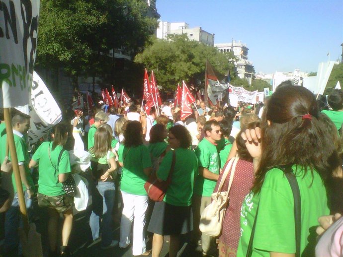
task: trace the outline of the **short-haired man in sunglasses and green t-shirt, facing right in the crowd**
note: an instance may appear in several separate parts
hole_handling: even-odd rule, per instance
[[[219,155],[216,141],[221,139],[221,130],[217,121],[211,120],[205,123],[203,128],[205,137],[195,149],[198,157],[199,174],[195,178],[192,199],[194,231],[192,243],[196,244],[199,237],[199,221],[201,212],[211,203],[211,194],[219,178]],[[201,235],[201,247],[203,256],[209,256],[208,252],[213,245],[214,238]]]

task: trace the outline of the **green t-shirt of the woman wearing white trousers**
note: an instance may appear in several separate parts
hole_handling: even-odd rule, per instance
[[[119,162],[124,163],[120,190],[136,195],[147,195],[144,184],[148,176],[143,170],[152,166],[148,148],[143,144],[136,147],[126,147],[121,144],[118,155]]]

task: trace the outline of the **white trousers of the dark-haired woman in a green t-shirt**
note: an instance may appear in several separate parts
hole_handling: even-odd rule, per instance
[[[148,208],[148,195],[136,195],[121,191],[123,196],[123,213],[120,222],[119,247],[126,248],[130,242],[130,232],[133,223],[132,255],[141,255],[146,252],[145,247],[145,212]]]

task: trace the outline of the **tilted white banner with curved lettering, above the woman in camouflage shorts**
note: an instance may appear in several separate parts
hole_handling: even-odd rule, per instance
[[[62,119],[62,113],[54,97],[49,92],[43,80],[33,72],[31,102],[29,103],[31,128],[28,131],[30,144],[39,140]]]

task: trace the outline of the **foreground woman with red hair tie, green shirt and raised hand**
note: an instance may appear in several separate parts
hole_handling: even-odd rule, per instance
[[[318,119],[315,96],[306,88],[278,88],[265,108],[262,128],[242,134],[253,157],[256,179],[241,209],[237,256],[315,256],[313,227],[319,216],[329,214],[325,183],[341,165],[337,149]],[[294,198],[284,171],[295,175],[300,191],[298,251]],[[252,253],[247,255],[250,242]]]

